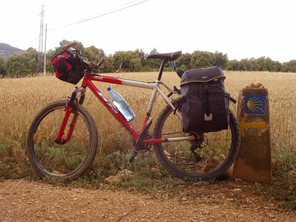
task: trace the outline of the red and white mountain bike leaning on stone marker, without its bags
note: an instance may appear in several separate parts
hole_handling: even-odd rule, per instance
[[[137,153],[150,151],[153,145],[155,154],[163,167],[178,178],[208,180],[218,177],[232,165],[240,146],[239,125],[233,112],[230,111],[227,130],[211,133],[184,133],[181,112],[177,110],[174,114],[180,96],[178,98],[173,96],[180,95],[180,90],[176,86],[171,89],[160,80],[165,63],[170,61],[173,66],[174,60],[181,56],[181,51],[148,55],[147,59],[162,60],[160,70],[155,81],[141,82],[91,73],[93,68],[99,68],[103,64],[104,59],[98,64],[89,62],[77,47],[71,48],[75,44],[76,42],[69,43],[63,46],[62,50],[68,57],[75,58],[76,63],[86,70],[81,87],[75,87],[67,100],[46,105],[30,125],[27,152],[30,163],[39,176],[66,176],[69,179],[75,179],[83,175],[91,166],[99,139],[95,121],[89,111],[83,107],[87,87],[132,136],[134,155],[130,162],[133,162]],[[147,115],[140,133],[131,127],[92,81],[152,90]],[[168,96],[160,89],[160,85],[169,91]],[[152,125],[150,115],[157,94],[165,100],[167,105],[159,113],[153,131],[150,133],[149,127]],[[218,165],[207,168],[205,162],[209,159],[217,160]]]

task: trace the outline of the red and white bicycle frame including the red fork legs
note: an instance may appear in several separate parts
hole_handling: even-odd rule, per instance
[[[151,89],[153,90],[152,96],[147,108],[147,115],[144,119],[142,132],[144,132],[144,128],[147,125],[148,119],[151,114],[151,110],[153,107],[153,104],[155,102],[156,94],[157,92],[160,93],[160,95],[165,99],[165,101],[172,107],[174,110],[174,105],[170,102],[170,100],[167,98],[167,96],[161,91],[159,85],[163,84],[160,82],[160,78],[163,71],[163,64],[160,68],[160,72],[158,74],[158,78],[154,83],[148,83],[148,82],[141,82],[141,81],[134,81],[134,80],[127,80],[127,79],[120,79],[120,78],[114,78],[109,76],[103,76],[103,75],[97,75],[97,74],[91,74],[90,72],[86,72],[86,75],[83,79],[82,85],[80,88],[74,88],[73,91],[75,92],[85,92],[86,88],[89,87],[89,89],[96,95],[96,97],[107,107],[107,109],[111,112],[111,114],[118,120],[118,122],[128,131],[128,133],[134,137],[135,141],[139,141],[139,136],[141,133],[137,133],[131,125],[126,121],[126,119],[117,111],[117,109],[109,102],[109,100],[102,94],[102,92],[92,83],[91,81],[98,81],[98,82],[105,82],[105,83],[112,83],[112,84],[118,84],[118,85],[125,85],[125,86],[133,86],[133,87],[139,87],[144,89]],[[167,87],[167,86],[166,86]],[[168,88],[168,87],[167,87]],[[175,91],[168,88],[172,93],[176,93]],[[65,144],[68,141],[70,141],[76,121],[78,119],[78,114],[74,112],[74,117],[72,119],[72,122],[70,124],[70,129],[67,133],[66,139],[62,139],[62,136],[65,135],[65,127],[68,122],[70,113],[72,112],[73,107],[70,107],[68,103],[66,104],[66,112],[65,117],[62,121],[62,126],[59,130],[59,133],[57,135],[57,138],[55,141],[59,144]],[[180,119],[182,119],[181,115],[176,112],[176,115]],[[149,126],[148,126],[149,127]],[[145,136],[145,135],[144,135]],[[140,141],[139,145],[141,144],[147,144],[147,143],[160,143],[160,142],[169,142],[169,141],[181,141],[181,140],[188,140],[188,139],[195,139],[194,136],[187,136],[187,137],[174,137],[174,138],[166,138],[166,139],[149,139],[149,140],[142,140]]]

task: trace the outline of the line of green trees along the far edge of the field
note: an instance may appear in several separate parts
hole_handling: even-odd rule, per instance
[[[62,46],[70,41],[62,40],[59,46],[54,50],[50,49],[46,52],[46,72],[52,72],[51,58],[62,51]],[[76,46],[75,46],[76,47]],[[89,61],[98,63],[103,57],[106,62],[100,70],[94,70],[95,73],[112,73],[112,72],[150,72],[157,71],[160,67],[161,60],[146,59],[147,55],[158,53],[157,49],[152,49],[151,52],[145,53],[143,49],[134,51],[117,51],[113,55],[106,55],[104,50],[95,46],[84,47],[81,42],[78,42],[77,47]],[[30,47],[19,54],[14,54],[8,57],[5,61],[0,57],[0,75],[2,77],[24,77],[38,73],[37,64],[38,52]],[[176,60],[176,67],[181,70],[189,70],[192,68],[206,68],[210,66],[219,66],[223,70],[233,71],[270,71],[270,72],[293,72],[296,73],[296,60],[289,62],[273,61],[271,58],[246,58],[240,61],[233,59],[229,60],[227,53],[215,51],[194,51],[193,53],[184,53]],[[165,71],[171,71],[169,63],[165,65]]]

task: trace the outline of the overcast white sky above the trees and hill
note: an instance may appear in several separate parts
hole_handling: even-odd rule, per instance
[[[54,29],[142,1],[1,1],[0,42],[24,50],[38,49],[38,14],[44,4],[44,30],[46,23],[49,30],[46,51],[67,39],[102,48],[105,54],[137,48],[150,52],[155,47],[160,53],[218,50],[237,60],[261,56],[280,62],[296,59],[294,0],[149,0]]]

